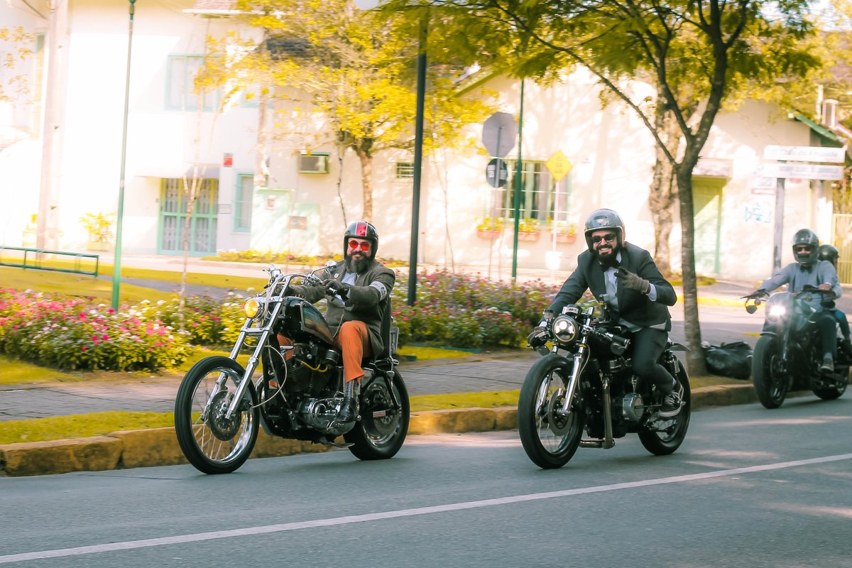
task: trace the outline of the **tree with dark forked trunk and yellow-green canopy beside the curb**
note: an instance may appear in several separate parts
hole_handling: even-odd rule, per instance
[[[406,0],[396,5],[412,8]],[[504,61],[504,69],[519,77],[552,80],[573,66],[586,67],[609,95],[629,106],[648,128],[676,181],[684,319],[691,348],[688,368],[694,374],[704,373],[692,172],[728,95],[740,85],[772,84],[778,77],[799,76],[819,66],[818,58],[804,52],[798,43],[810,32],[804,17],[808,3],[432,0],[429,6],[452,14],[459,27],[471,20],[497,22],[502,32],[509,33],[516,52]],[[769,14],[773,6],[780,12]],[[506,37],[482,33],[469,41],[488,52],[506,43]],[[658,89],[656,103],[636,98],[630,89],[636,80],[646,77]],[[676,123],[677,135],[666,136],[659,120]]]

